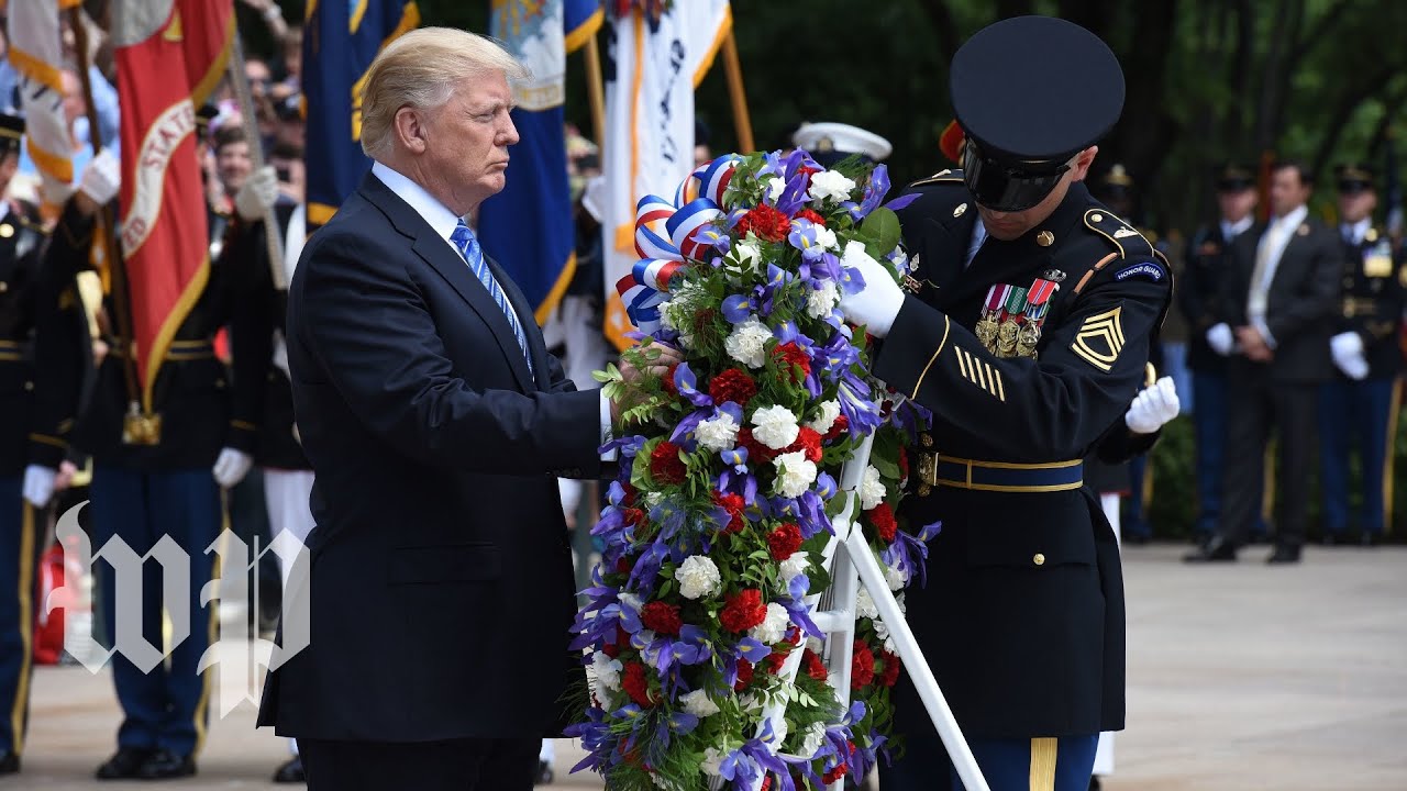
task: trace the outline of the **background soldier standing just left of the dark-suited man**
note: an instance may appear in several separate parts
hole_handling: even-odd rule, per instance
[[[1207,343],[1207,331],[1220,318],[1218,300],[1228,276],[1231,242],[1255,224],[1255,172],[1228,163],[1217,170],[1217,221],[1203,225],[1188,245],[1188,266],[1178,283],[1178,308],[1188,321],[1188,367],[1192,369],[1192,422],[1197,445],[1197,521],[1193,540],[1206,543],[1221,518],[1221,479],[1225,474],[1227,360]],[[1254,535],[1265,536],[1258,519]]]

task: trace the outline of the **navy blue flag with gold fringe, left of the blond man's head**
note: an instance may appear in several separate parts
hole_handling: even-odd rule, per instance
[[[303,96],[310,231],[331,220],[371,169],[362,153],[360,83],[377,52],[419,24],[415,0],[308,3]]]

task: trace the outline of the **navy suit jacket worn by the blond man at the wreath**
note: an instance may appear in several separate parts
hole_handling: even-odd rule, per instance
[[[291,593],[311,643],[259,714],[280,735],[529,738],[566,708],[580,662],[553,476],[599,472],[599,393],[573,391],[494,274],[529,318],[536,381],[464,260],[376,176],[303,251],[288,363],[317,528]]]

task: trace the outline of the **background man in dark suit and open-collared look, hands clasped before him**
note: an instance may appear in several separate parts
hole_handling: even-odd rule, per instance
[[[1280,510],[1269,563],[1297,563],[1304,543],[1318,386],[1332,373],[1330,321],[1344,248],[1310,218],[1309,170],[1279,162],[1271,180],[1271,221],[1231,245],[1221,321],[1207,342],[1227,362],[1234,393],[1217,535],[1188,562],[1235,560],[1259,510],[1271,429],[1279,435]]]

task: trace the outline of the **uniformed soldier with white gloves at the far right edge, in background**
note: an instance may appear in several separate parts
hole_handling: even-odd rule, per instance
[[[1339,165],[1339,234],[1344,255],[1342,311],[1330,349],[1338,376],[1320,394],[1320,460],[1324,543],[1342,543],[1349,526],[1349,455],[1362,470],[1359,540],[1376,543],[1386,529],[1393,484],[1392,448],[1401,396],[1397,334],[1407,267],[1393,260],[1392,239],[1373,227],[1377,193],[1366,165]]]

